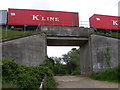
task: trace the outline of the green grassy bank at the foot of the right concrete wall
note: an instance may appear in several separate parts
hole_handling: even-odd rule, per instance
[[[104,72],[94,73],[90,77],[95,80],[120,83],[120,65],[110,68]]]

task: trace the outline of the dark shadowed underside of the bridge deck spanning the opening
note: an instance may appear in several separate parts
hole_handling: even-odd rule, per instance
[[[83,37],[47,37],[48,46],[82,46],[86,41]]]

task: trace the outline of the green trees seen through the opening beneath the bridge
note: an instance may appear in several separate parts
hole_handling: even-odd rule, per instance
[[[51,69],[54,75],[80,75],[80,50],[73,48],[62,58],[46,57],[44,65]]]

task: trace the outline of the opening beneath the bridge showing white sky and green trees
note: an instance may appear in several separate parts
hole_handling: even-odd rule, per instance
[[[47,62],[50,67],[47,65],[50,69],[52,67],[55,76],[80,75],[79,48],[79,46],[47,46]],[[51,61],[54,61],[54,64]]]

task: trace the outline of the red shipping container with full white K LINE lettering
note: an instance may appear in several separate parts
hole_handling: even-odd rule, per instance
[[[9,9],[8,25],[79,26],[77,12]]]

